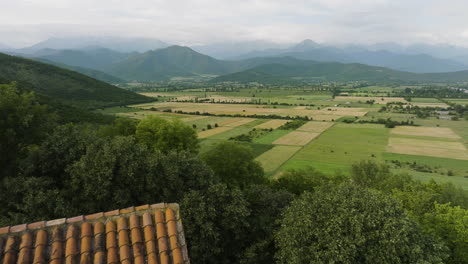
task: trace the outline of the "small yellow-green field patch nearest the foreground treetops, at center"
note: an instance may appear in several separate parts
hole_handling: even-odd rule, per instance
[[[288,161],[301,147],[275,146],[258,156],[256,160],[262,164],[265,172],[273,172]]]

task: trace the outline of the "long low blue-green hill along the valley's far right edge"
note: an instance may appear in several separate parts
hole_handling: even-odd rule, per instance
[[[468,71],[450,73],[410,73],[359,63],[298,61],[297,64],[264,64],[245,71],[218,76],[213,82],[277,83],[304,80],[375,82],[468,81]]]

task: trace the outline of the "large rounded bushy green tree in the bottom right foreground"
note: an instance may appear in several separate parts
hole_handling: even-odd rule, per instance
[[[276,234],[278,263],[442,263],[441,243],[423,234],[380,192],[341,185],[304,193]]]

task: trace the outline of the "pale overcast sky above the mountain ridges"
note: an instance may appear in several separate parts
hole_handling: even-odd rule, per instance
[[[125,36],[468,46],[467,0],[0,0],[0,43]]]

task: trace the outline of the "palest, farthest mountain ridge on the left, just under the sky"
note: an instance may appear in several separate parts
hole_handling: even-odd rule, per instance
[[[149,38],[120,38],[120,37],[77,37],[77,38],[50,38],[31,47],[19,49],[20,53],[34,53],[41,49],[86,49],[97,47],[111,49],[119,52],[145,52],[160,49],[169,44],[158,39]]]

